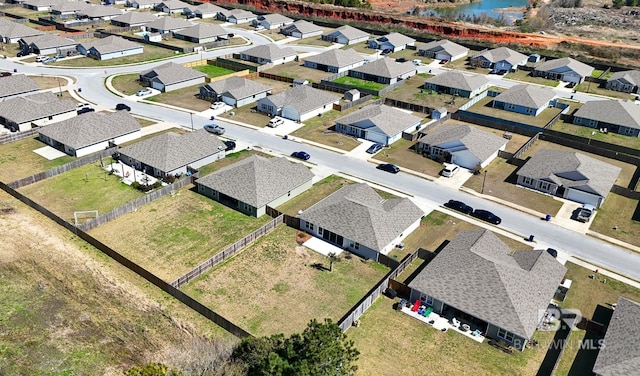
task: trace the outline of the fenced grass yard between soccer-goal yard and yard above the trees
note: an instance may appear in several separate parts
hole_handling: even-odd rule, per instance
[[[269,219],[246,216],[183,188],[91,233],[170,282]]]

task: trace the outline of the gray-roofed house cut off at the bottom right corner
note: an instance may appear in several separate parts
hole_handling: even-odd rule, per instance
[[[640,303],[620,296],[598,351],[597,376],[633,375],[640,369]]]

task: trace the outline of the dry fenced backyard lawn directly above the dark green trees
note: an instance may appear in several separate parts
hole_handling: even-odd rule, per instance
[[[183,290],[252,334],[289,335],[312,318],[338,321],[388,272],[347,255],[329,272],[327,257],[298,245],[296,230],[281,225]]]

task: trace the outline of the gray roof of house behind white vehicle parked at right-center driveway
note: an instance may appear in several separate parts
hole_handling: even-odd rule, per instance
[[[450,147],[456,149],[462,144],[479,160],[485,161],[508,140],[465,124],[442,124],[427,133],[419,142],[439,147],[451,145]]]

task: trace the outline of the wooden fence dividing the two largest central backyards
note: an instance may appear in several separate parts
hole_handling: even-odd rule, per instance
[[[229,257],[235,255],[236,253],[242,251],[243,249],[245,249],[247,247],[247,245],[253,243],[254,241],[256,241],[256,240],[260,239],[261,237],[263,237],[264,235],[268,234],[269,232],[271,232],[273,229],[275,229],[278,225],[280,225],[282,223],[284,223],[284,214],[280,214],[278,217],[276,217],[276,218],[272,219],[271,221],[267,222],[264,226],[262,226],[259,229],[255,230],[251,234],[249,234],[249,235],[245,236],[244,238],[238,240],[237,242],[231,244],[230,246],[228,246],[227,248],[222,250],[222,252],[218,252],[216,255],[214,255],[213,257],[209,258],[207,261],[205,261],[202,264],[196,266],[195,268],[191,269],[190,271],[188,271],[183,276],[181,276],[178,279],[176,279],[175,281],[171,282],[170,285],[175,287],[176,289],[181,288],[182,286],[186,285],[187,283],[189,283],[193,279],[195,279],[198,276],[202,275],[202,273],[204,273],[207,270],[215,267],[216,265],[218,265],[221,262],[225,261]]]

